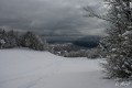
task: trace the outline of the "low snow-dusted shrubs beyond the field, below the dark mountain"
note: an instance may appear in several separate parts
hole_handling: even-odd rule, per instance
[[[101,54],[99,47],[95,48],[85,48],[74,44],[52,44],[48,47],[48,51],[55,55],[65,56],[65,57],[88,57],[88,58],[98,58]]]

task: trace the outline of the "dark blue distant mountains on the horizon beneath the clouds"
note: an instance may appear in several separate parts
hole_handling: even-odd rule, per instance
[[[74,45],[78,45],[81,47],[96,47],[99,44],[100,36],[98,35],[88,35],[88,36],[45,36],[50,44],[65,44],[73,43]]]

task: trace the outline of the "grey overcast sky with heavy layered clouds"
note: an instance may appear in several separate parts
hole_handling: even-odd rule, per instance
[[[103,21],[85,18],[82,7],[101,12],[102,0],[0,0],[0,26],[43,34],[101,35]]]

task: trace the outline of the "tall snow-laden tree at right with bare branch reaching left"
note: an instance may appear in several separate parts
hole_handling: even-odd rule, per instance
[[[103,64],[110,78],[132,76],[132,1],[105,0],[108,6],[106,16],[90,12],[94,16],[108,21],[107,36],[100,46],[105,51],[107,63]],[[89,11],[86,8],[87,11]]]

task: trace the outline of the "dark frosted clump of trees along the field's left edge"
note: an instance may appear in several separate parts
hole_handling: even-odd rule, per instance
[[[11,47],[30,47],[37,51],[47,50],[46,41],[43,41],[38,35],[26,32],[19,33],[16,31],[4,31],[0,28],[0,48],[11,48]]]

